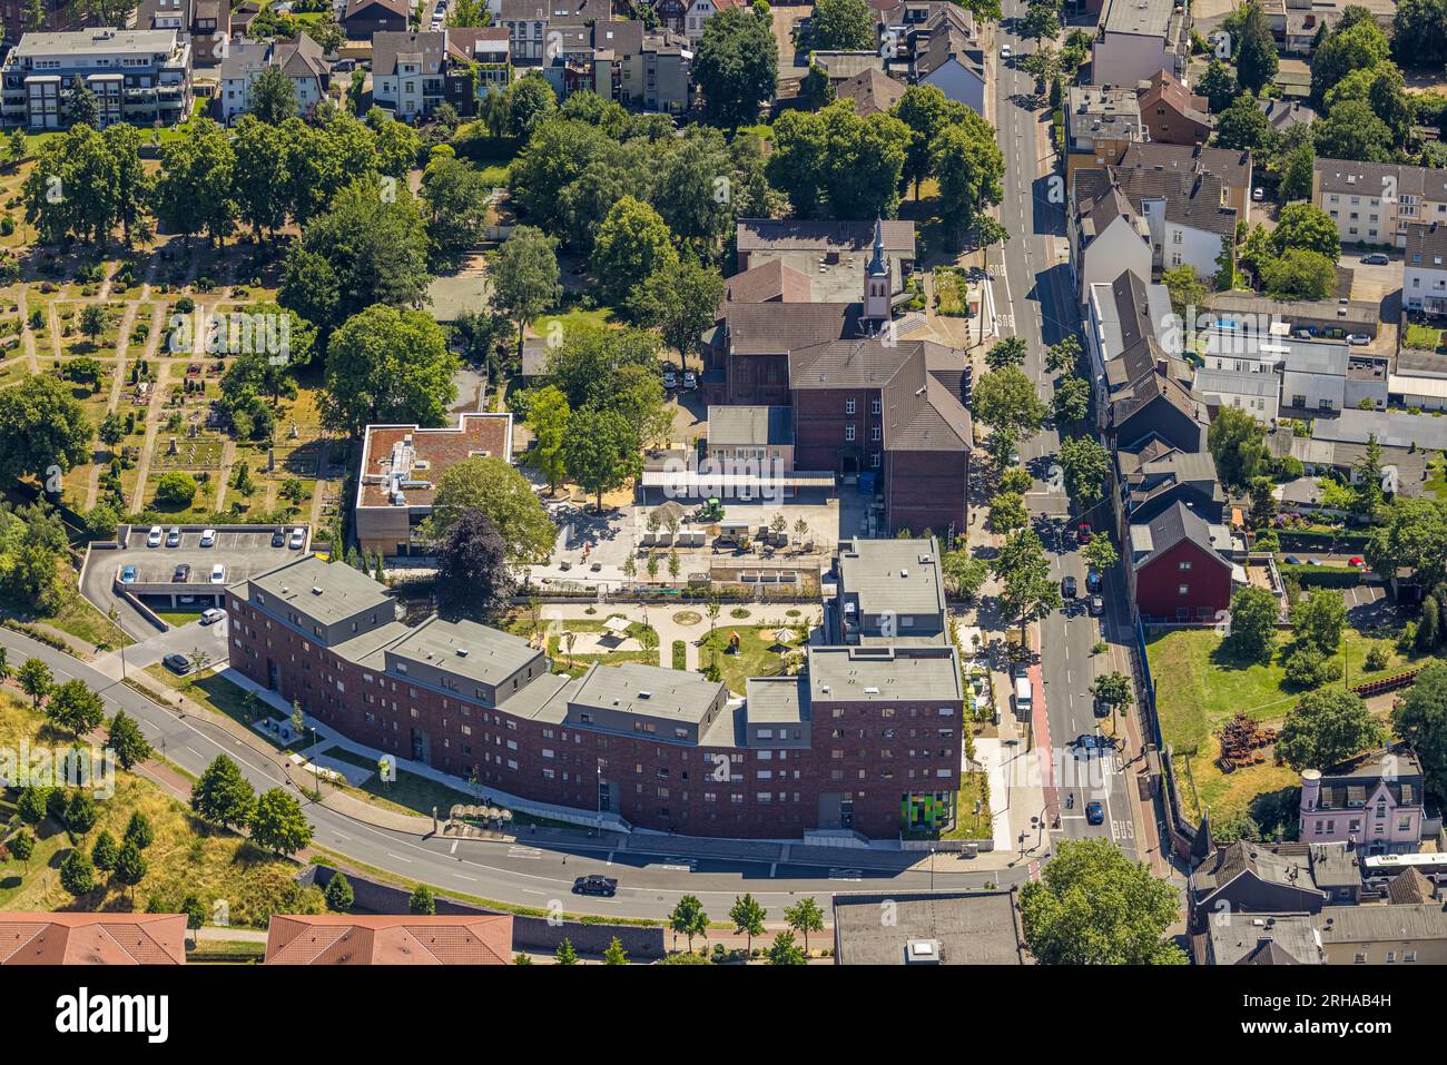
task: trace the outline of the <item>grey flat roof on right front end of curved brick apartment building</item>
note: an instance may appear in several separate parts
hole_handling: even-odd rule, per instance
[[[810,647],[813,702],[959,702],[959,658],[948,644],[928,647]]]

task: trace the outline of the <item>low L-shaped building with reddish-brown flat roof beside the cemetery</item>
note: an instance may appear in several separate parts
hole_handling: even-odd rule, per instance
[[[368,425],[353,511],[357,546],[389,559],[430,550],[415,532],[433,512],[437,478],[479,456],[512,460],[511,414],[463,414],[444,428]]]

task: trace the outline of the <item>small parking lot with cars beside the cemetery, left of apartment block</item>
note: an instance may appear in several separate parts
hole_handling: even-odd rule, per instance
[[[166,534],[172,528],[179,528],[179,543],[168,547]],[[302,530],[301,546],[291,547],[291,534],[297,528]],[[156,611],[217,606],[226,585],[305,554],[311,540],[305,525],[287,525],[288,540],[281,547],[272,546],[276,530],[273,525],[217,527],[216,543],[201,547],[201,525],[164,525],[161,546],[148,547],[149,525],[123,525],[117,537],[119,548],[90,553],[81,573],[81,593],[103,614],[114,611],[127,635],[145,640],[155,635],[156,628],[133,606],[130,596]],[[223,569],[213,580],[216,566]]]

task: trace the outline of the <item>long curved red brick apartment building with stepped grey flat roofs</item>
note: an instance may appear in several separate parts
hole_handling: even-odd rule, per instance
[[[233,669],[355,741],[499,796],[684,835],[888,838],[948,823],[959,787],[948,642],[812,647],[806,673],[750,680],[738,699],[658,666],[569,679],[467,621],[405,625],[382,585],[311,556],[226,601]]]

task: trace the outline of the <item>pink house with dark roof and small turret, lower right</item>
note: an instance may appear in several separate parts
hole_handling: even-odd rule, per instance
[[[1428,822],[1422,767],[1405,744],[1301,773],[1304,844],[1353,841],[1367,854],[1415,854]]]

